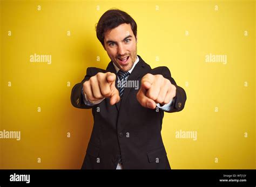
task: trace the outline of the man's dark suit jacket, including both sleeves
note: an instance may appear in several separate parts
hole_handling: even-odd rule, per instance
[[[173,80],[170,70],[167,67],[151,69],[149,64],[138,57],[139,62],[128,80],[138,80],[140,88],[145,74],[163,75],[177,88],[174,105],[168,112],[183,110],[186,93]],[[124,169],[171,169],[161,138],[164,111],[141,106],[136,98],[139,89],[125,88],[121,101],[112,106],[109,98],[93,106],[84,104],[83,83],[98,72],[107,71],[116,74],[112,61],[106,70],[87,68],[84,80],[72,88],[72,105],[79,109],[92,109],[94,119],[82,169],[116,169],[120,159]],[[166,125],[171,125],[171,122]]]

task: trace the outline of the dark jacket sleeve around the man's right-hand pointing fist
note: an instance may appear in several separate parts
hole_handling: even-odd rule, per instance
[[[167,67],[157,67],[152,69],[151,74],[153,75],[157,75],[157,74],[161,74],[163,75],[165,78],[167,78],[168,80],[171,81],[171,83],[176,87],[176,97],[173,98],[173,104],[171,107],[170,111],[165,111],[165,112],[179,112],[181,110],[184,109],[185,106],[185,102],[186,102],[186,92],[183,88],[179,87],[176,82],[174,81],[174,79],[171,76],[171,72],[169,70],[169,68]]]

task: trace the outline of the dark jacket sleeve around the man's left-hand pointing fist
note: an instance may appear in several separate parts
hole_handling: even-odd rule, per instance
[[[84,96],[82,93],[83,84],[85,81],[88,81],[92,76],[95,76],[97,73],[105,73],[105,70],[99,68],[87,68],[86,75],[82,82],[77,83],[71,91],[71,104],[79,109],[91,109],[92,106],[85,105]]]

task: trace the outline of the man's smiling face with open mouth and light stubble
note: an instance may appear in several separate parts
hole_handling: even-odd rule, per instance
[[[121,24],[105,32],[104,49],[119,69],[129,71],[137,58],[137,41],[131,25]]]

